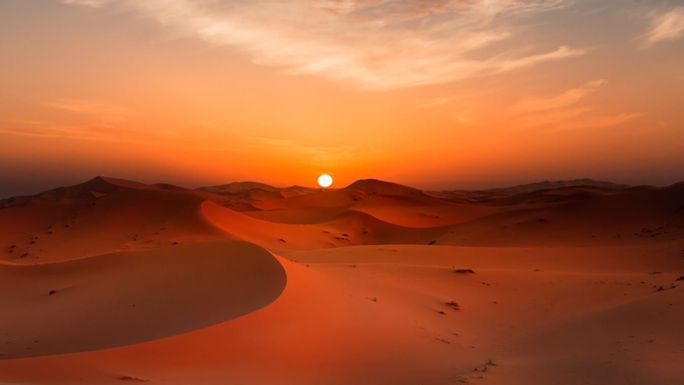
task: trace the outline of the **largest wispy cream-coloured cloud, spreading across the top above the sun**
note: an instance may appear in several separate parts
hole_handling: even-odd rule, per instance
[[[583,55],[514,42],[523,16],[565,0],[62,0],[133,11],[253,62],[386,90],[446,83]],[[527,40],[526,40],[527,41]],[[495,43],[508,44],[495,44]]]

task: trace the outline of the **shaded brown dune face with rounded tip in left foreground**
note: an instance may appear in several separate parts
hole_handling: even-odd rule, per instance
[[[204,328],[263,308],[285,282],[272,254],[241,241],[0,265],[0,359],[105,349]]]

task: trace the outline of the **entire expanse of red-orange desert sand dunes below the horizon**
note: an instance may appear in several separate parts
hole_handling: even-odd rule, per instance
[[[0,200],[1,384],[681,384],[684,183]]]

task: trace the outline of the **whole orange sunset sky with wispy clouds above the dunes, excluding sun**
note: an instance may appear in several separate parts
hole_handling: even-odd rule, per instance
[[[0,0],[0,197],[684,181],[684,0]]]

